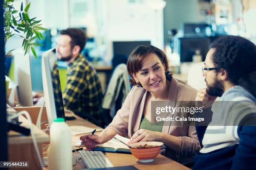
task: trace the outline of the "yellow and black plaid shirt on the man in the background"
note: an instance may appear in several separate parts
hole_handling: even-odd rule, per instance
[[[64,107],[80,117],[102,122],[102,90],[95,69],[82,54],[67,66],[67,84],[62,94]]]

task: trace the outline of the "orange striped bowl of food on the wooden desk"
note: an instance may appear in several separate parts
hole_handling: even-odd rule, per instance
[[[150,148],[143,148],[143,146],[148,145]],[[154,158],[160,153],[161,147],[164,145],[162,142],[138,142],[129,144],[131,147],[131,153],[135,158],[138,158],[142,163],[149,163],[154,161]]]

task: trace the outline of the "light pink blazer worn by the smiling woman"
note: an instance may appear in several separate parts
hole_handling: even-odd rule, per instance
[[[194,101],[196,93],[197,90],[187,83],[172,77],[168,99],[174,104],[176,101]],[[131,138],[139,130],[146,94],[147,90],[143,87],[134,86],[107,128],[115,130],[118,135]],[[184,162],[200,150],[195,126],[171,126],[171,122],[164,122],[162,133],[181,139],[178,153],[166,148],[165,155],[172,160]]]

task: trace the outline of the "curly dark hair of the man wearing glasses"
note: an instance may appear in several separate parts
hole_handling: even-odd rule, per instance
[[[256,46],[239,36],[223,36],[212,43],[213,62],[228,72],[228,79],[256,96]]]

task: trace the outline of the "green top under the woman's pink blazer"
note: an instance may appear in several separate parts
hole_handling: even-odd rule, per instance
[[[162,132],[164,121],[151,123],[144,115],[141,117],[140,129]]]

